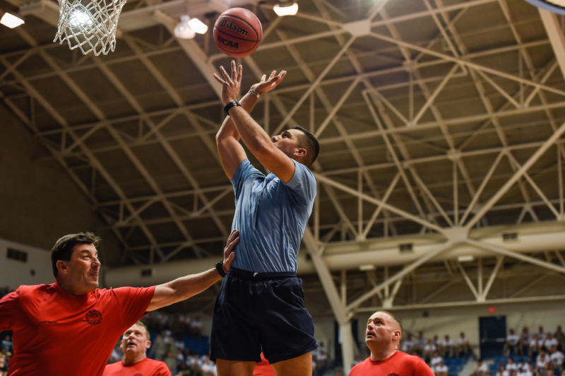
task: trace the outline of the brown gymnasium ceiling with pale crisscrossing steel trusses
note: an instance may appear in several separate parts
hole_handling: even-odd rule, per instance
[[[25,14],[1,28],[0,97],[114,230],[124,265],[217,258],[229,233],[211,74],[230,59],[211,33],[171,32],[184,13],[213,25],[233,6],[254,11],[265,34],[237,61],[242,88],[288,72],[254,118],[270,134],[301,124],[319,137],[319,244],[475,216],[480,227],[563,218],[561,137],[511,182],[565,121],[561,66],[523,0],[299,0],[282,18],[269,1],[129,0],[115,52],[100,57],[53,43],[58,4],[34,1],[0,0]]]

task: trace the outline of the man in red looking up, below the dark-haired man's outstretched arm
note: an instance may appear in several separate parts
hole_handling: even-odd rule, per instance
[[[124,360],[107,365],[102,376],[171,376],[165,363],[145,356],[150,346],[147,327],[141,321],[136,322],[121,338]]]

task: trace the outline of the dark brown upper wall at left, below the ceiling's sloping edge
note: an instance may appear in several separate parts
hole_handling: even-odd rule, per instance
[[[62,235],[93,231],[102,236],[102,262],[115,264],[117,240],[100,230],[104,224],[83,192],[4,105],[0,119],[0,238],[51,249]],[[5,260],[0,253],[0,264]],[[50,273],[50,264],[45,268]],[[0,274],[0,285],[18,283],[7,278]]]

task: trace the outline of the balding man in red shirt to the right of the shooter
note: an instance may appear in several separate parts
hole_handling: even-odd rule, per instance
[[[371,356],[355,365],[350,376],[434,376],[424,360],[398,351],[402,324],[391,313],[377,311],[367,322],[365,343]]]

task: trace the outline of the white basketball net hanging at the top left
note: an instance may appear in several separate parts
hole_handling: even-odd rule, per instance
[[[53,42],[69,43],[83,54],[108,54],[116,48],[119,13],[126,0],[59,0],[59,29]]]

